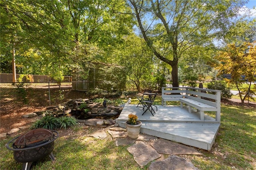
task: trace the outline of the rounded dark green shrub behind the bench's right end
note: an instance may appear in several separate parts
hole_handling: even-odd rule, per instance
[[[207,84],[207,89],[221,90],[221,99],[231,99],[232,93],[227,88],[227,83],[224,80],[215,80]]]

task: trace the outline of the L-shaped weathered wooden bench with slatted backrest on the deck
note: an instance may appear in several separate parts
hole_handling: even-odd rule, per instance
[[[177,87],[168,87],[168,93],[166,91],[167,87],[162,87],[162,94],[164,92],[164,99],[162,97],[162,105],[166,106],[166,101],[180,101],[180,107],[183,108],[183,103],[188,105],[188,112],[192,112],[192,107],[197,109],[200,112],[200,120],[204,121],[204,111],[214,111],[215,120],[220,122],[220,91],[212,89],[200,89],[193,87],[185,87],[184,90],[179,90]],[[184,88],[183,88],[184,89]],[[210,93],[206,93],[210,92]],[[180,93],[177,97],[173,94]],[[182,94],[182,95],[181,95]],[[167,97],[169,96],[170,97]],[[164,102],[164,103],[163,103]]]

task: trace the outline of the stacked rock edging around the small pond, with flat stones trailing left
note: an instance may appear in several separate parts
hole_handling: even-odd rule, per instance
[[[80,105],[82,103],[86,103],[88,105],[88,109],[90,109],[87,114],[91,116],[114,116],[118,115],[122,112],[123,107],[115,107],[115,106],[106,106],[103,107],[102,103],[94,103],[89,99],[70,99],[65,103],[56,106],[46,107],[44,111],[36,111],[33,113],[29,113],[27,115],[23,115],[24,118],[42,118],[46,115],[46,113],[51,113],[54,117],[60,117],[62,115],[70,116],[72,111],[81,111]],[[92,127],[107,127],[108,125],[112,127],[118,127],[119,125],[116,123],[116,120],[113,119],[86,119],[80,120],[77,119],[78,123],[84,123],[85,126]],[[25,131],[30,128],[30,125],[13,128],[9,132],[0,133],[0,140],[6,139],[7,135],[16,133],[18,131]]]

